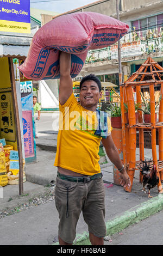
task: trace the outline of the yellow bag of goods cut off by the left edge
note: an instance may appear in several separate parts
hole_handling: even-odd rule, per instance
[[[5,155],[4,152],[0,152],[0,186],[4,187],[8,184],[7,170],[5,167]]]

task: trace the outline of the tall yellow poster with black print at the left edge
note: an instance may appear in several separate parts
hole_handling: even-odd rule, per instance
[[[1,138],[6,141],[16,141],[14,109],[11,92],[0,93],[0,127]]]

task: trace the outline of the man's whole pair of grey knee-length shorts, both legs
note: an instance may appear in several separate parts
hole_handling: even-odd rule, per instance
[[[76,226],[81,211],[89,232],[97,237],[106,235],[105,190],[103,178],[90,182],[71,182],[57,177],[55,205],[59,212],[59,236],[67,243],[76,237]]]

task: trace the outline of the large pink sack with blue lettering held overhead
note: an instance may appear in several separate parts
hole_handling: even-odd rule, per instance
[[[59,16],[34,35],[25,62],[18,66],[32,80],[59,78],[59,51],[71,53],[71,77],[82,70],[87,51],[115,44],[128,25],[112,17],[91,12]]]

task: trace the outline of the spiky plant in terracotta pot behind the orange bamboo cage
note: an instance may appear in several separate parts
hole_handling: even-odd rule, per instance
[[[141,98],[143,100],[143,103],[145,105],[145,108],[138,108],[139,110],[141,110],[143,112],[143,119],[145,121],[145,123],[151,123],[151,102],[150,99],[145,100],[145,98],[143,97],[142,92],[140,92]],[[159,97],[159,101],[158,103],[155,105],[155,109],[158,107],[159,103],[161,100],[161,95]],[[155,121],[157,119],[157,114],[155,113]]]

